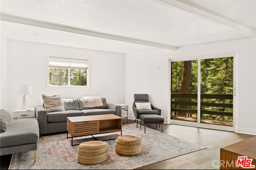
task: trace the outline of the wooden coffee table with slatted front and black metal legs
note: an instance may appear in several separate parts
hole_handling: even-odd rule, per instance
[[[114,114],[74,116],[67,118],[67,138],[121,131],[122,118]],[[71,137],[68,137],[70,134]],[[93,136],[94,137],[94,136]]]

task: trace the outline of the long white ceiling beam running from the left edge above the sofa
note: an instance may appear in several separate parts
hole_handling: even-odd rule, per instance
[[[82,29],[82,28],[66,26],[66,25],[62,25],[62,24],[56,24],[56,23],[52,23],[52,22],[44,22],[44,21],[32,20],[32,19],[28,19],[28,18],[21,18],[19,16],[11,16],[8,14],[1,14],[0,19],[4,20],[4,21],[19,23],[19,24],[38,26],[38,27],[42,27],[42,28],[60,30],[60,31],[65,31],[65,32],[72,32],[75,34],[82,34],[82,35],[87,35],[87,36],[94,36],[94,37],[106,38],[106,39],[123,41],[123,42],[130,42],[130,43],[141,44],[141,45],[146,45],[146,46],[153,46],[153,47],[164,48],[164,49],[168,49],[168,50],[177,50],[178,49],[178,47],[176,47],[176,46],[170,46],[167,44],[160,44],[160,43],[156,43],[156,42],[139,40],[139,39],[135,39],[135,38],[116,36],[116,35],[112,35],[112,34],[95,32],[92,30],[86,30],[86,29]]]

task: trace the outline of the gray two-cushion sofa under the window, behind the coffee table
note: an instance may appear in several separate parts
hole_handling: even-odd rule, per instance
[[[84,107],[82,98],[62,99],[65,110],[58,112],[47,112],[41,106],[35,108],[36,118],[39,124],[40,134],[50,134],[67,131],[67,117],[71,116],[88,116],[97,114],[115,114],[121,117],[121,106],[108,104],[106,98],[101,98],[103,106],[95,108]]]

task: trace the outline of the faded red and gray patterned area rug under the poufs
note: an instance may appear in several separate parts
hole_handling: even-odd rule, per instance
[[[95,135],[97,140],[106,140],[109,146],[108,159],[97,165],[84,165],[77,162],[77,146],[71,146],[71,138],[66,133],[42,136],[39,138],[36,162],[31,152],[13,154],[9,169],[135,169],[170,158],[205,149],[205,147],[135,124],[123,125],[123,135],[142,138],[142,151],[136,156],[121,156],[115,152],[115,140],[120,132]],[[76,142],[95,140],[92,136],[74,138]]]

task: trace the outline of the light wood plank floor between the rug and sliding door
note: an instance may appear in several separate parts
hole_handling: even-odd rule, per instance
[[[147,126],[156,128],[155,125]],[[217,162],[220,160],[220,148],[253,137],[247,134],[173,124],[164,124],[163,132],[199,144],[207,149],[138,169],[220,169],[218,166],[219,162]]]

